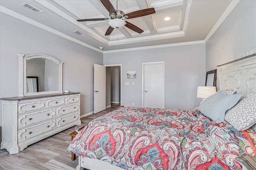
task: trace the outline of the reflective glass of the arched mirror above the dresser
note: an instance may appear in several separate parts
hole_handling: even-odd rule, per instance
[[[26,75],[38,77],[38,91],[58,91],[59,82],[59,66],[51,60],[43,58],[29,59],[26,61]],[[27,79],[28,82],[28,79]],[[26,92],[36,92],[28,89],[31,86],[27,86]]]

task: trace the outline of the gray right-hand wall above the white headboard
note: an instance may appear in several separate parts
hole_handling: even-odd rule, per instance
[[[256,1],[240,0],[206,42],[206,70],[214,70],[217,65],[238,59],[238,55],[254,48],[256,48]],[[219,88],[218,79],[217,88]]]

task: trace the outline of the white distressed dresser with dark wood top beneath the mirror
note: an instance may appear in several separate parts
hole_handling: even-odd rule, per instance
[[[80,125],[80,93],[2,98],[1,149],[10,154],[74,125]]]

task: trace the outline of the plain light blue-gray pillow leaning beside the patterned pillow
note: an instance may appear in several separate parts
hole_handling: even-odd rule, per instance
[[[212,96],[206,98],[198,107],[198,110],[206,117],[216,123],[224,122],[225,113],[233,107],[240,99],[241,94],[227,96],[224,90],[219,90]]]

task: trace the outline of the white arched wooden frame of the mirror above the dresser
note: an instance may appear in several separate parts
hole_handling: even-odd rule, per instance
[[[17,54],[18,56],[18,84],[19,84],[19,95],[18,96],[34,96],[34,95],[41,95],[41,94],[54,94],[54,93],[63,93],[62,92],[62,64],[63,62],[58,61],[54,57],[50,55],[44,55],[44,54],[33,54],[33,55],[24,55],[24,54]],[[50,61],[53,61],[54,63],[58,64],[59,67],[59,90],[57,91],[46,91],[46,92],[26,92],[26,78],[27,78],[27,72],[26,72],[26,65],[27,60],[30,59],[48,59]]]

